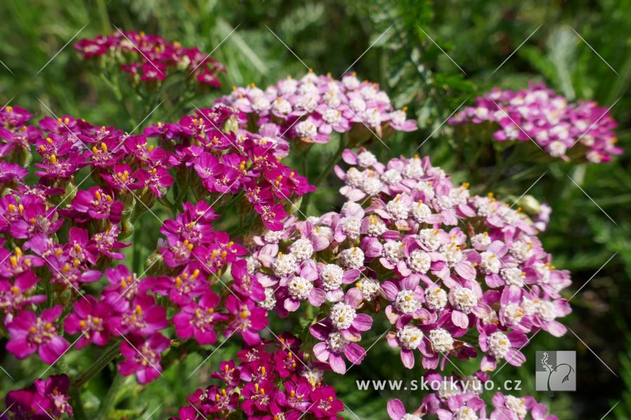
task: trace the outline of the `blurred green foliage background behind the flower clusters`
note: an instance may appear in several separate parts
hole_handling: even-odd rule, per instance
[[[276,36],[314,71],[330,71],[334,77],[374,43],[352,70],[361,78],[378,81],[395,106],[409,106],[421,126],[420,132],[389,139],[390,150],[374,144],[372,151],[380,158],[412,155],[425,141],[417,153],[429,155],[456,181],[469,181],[478,192],[494,190],[506,200],[522,195],[545,173],[529,194],[552,206],[550,228],[541,238],[554,255],[554,264],[572,272],[574,286],[568,297],[581,289],[571,300],[574,313],[565,320],[578,337],[571,332],[562,339],[538,334],[524,349],[529,362],[520,369],[504,367],[494,379],[522,379],[522,393],[535,395],[561,419],[600,419],[614,405],[606,418],[631,418],[631,1],[5,0],[0,2],[0,15],[4,17],[0,60],[8,67],[0,66],[2,105],[11,99],[11,104],[44,116],[48,110],[43,102],[59,116],[81,116],[125,130],[133,128],[130,112],[144,104],[133,95],[116,100],[72,49],[79,38],[109,34],[115,25],[160,34],[205,52],[221,44],[212,57],[229,69],[222,76],[223,92],[231,85],[265,86],[287,75],[304,74],[305,66]],[[520,89],[529,80],[543,81],[569,99],[593,99],[606,107],[615,103],[611,113],[620,124],[620,146],[627,153],[607,165],[569,165],[524,149],[522,162],[500,172],[498,164],[508,152],[494,149],[490,132],[471,133],[442,124],[459,105],[472,103],[491,87]],[[221,93],[210,92],[196,99],[195,105],[208,106]],[[169,113],[184,115],[192,108],[189,104],[175,113],[167,99],[147,123]],[[314,148],[312,161],[326,160],[335,147],[332,142]],[[472,151],[480,153],[473,158]],[[318,170],[308,167],[311,179]],[[492,183],[487,185],[489,180]],[[315,193],[309,212],[341,204],[335,194],[339,182],[331,176],[326,184]],[[142,235],[139,241],[148,254],[158,232],[154,227],[144,229]],[[272,327],[278,332],[292,328],[280,321]],[[375,328],[374,334],[366,339],[367,346],[381,330]],[[128,379],[126,392],[112,395],[121,409],[119,418],[144,418],[152,412],[152,418],[174,415],[186,395],[208,384],[208,372],[233,356],[237,347],[226,343],[190,379],[184,378],[214,347],[203,356],[175,363],[164,378],[145,388]],[[15,363],[1,353],[4,343],[2,348],[0,365],[15,381],[0,373],[0,398],[27,386],[45,368],[36,362]],[[550,397],[534,391],[532,360],[536,350],[544,349],[577,351],[576,392]],[[70,352],[60,367],[81,372],[96,357],[91,351]],[[462,369],[473,372],[475,364]],[[114,373],[109,367],[90,381],[81,395],[88,412],[98,412]],[[398,353],[381,342],[346,377],[328,379],[354,413],[344,413],[346,418],[384,419],[388,398],[397,396],[412,408],[422,395],[358,391],[355,379],[418,379],[420,375],[419,370],[405,370]]]

